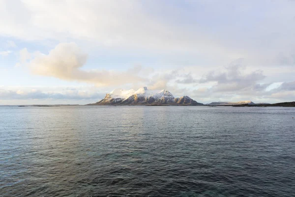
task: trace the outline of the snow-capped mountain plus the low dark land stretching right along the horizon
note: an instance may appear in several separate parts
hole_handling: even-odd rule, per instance
[[[168,90],[148,90],[147,87],[142,87],[138,90],[122,90],[115,89],[106,94],[104,99],[96,103],[88,105],[180,105],[180,106],[295,106],[295,102],[282,103],[254,103],[251,100],[243,100],[238,102],[211,102],[203,104],[191,99],[189,96],[175,98]]]

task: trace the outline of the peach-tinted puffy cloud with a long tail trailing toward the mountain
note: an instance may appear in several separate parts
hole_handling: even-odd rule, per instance
[[[27,54],[24,49],[24,53]],[[27,59],[27,56],[25,56]],[[33,74],[56,77],[67,81],[92,83],[96,86],[116,86],[145,81],[137,75],[141,66],[127,71],[83,70],[88,55],[75,43],[59,43],[48,55],[40,54],[29,62]]]

